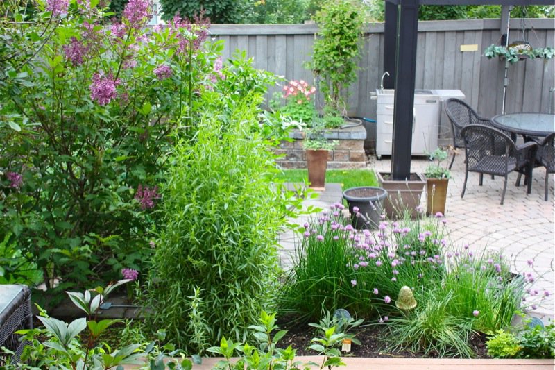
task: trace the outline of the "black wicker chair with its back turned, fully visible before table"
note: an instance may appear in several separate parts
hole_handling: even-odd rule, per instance
[[[531,191],[532,167],[538,146],[535,142],[526,142],[516,146],[508,135],[497,130],[497,128],[484,125],[463,127],[461,136],[464,140],[466,153],[466,172],[461,198],[466,190],[468,172],[478,172],[480,174],[479,185],[483,183],[484,174],[504,176],[501,204],[505,199],[507,176],[511,171],[524,173],[528,184],[528,192]],[[504,147],[503,152],[500,151],[502,147]]]

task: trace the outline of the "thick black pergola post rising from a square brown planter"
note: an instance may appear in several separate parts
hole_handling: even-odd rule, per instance
[[[411,177],[418,0],[403,0],[398,8],[391,174],[393,180],[406,180]]]

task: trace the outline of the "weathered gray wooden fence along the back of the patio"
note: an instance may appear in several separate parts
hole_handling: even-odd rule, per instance
[[[553,19],[511,19],[509,40],[521,40],[522,24],[525,37],[533,47],[553,47]],[[502,109],[504,62],[483,56],[490,44],[501,37],[499,19],[461,21],[429,21],[418,24],[416,88],[459,89],[466,100],[486,117]],[[232,56],[235,49],[244,49],[255,58],[255,65],[268,69],[288,80],[304,79],[314,84],[315,78],[305,68],[311,60],[314,35],[318,25],[214,25],[214,37],[225,42],[223,56]],[[361,55],[358,80],[350,89],[349,112],[375,119],[375,101],[369,92],[379,87],[383,73],[382,23],[365,27],[364,51]],[[477,44],[478,51],[461,52],[461,44]],[[507,111],[554,112],[555,61],[523,60],[509,66]],[[272,87],[268,97],[280,86]],[[322,96],[318,101],[322,101]]]

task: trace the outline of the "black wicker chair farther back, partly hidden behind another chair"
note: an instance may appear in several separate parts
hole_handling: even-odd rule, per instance
[[[454,149],[464,148],[464,140],[461,135],[463,127],[468,125],[484,125],[493,127],[489,119],[480,117],[475,110],[468,106],[467,103],[459,99],[447,99],[445,101],[445,112],[451,121]],[[449,169],[453,166],[454,160],[455,155],[453,154]]]

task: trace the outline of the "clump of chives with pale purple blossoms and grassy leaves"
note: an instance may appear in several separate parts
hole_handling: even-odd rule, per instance
[[[511,274],[499,253],[454,246],[441,214],[355,230],[343,209],[332,205],[300,226],[284,310],[314,318],[345,308],[391,326],[392,350],[470,357],[472,333],[510,326],[516,312],[549,296],[531,289],[532,274]],[[402,287],[411,289],[416,307],[398,305]]]

